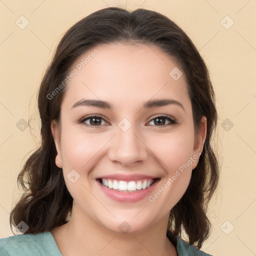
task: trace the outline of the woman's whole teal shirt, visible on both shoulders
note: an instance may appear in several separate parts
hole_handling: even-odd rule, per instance
[[[212,256],[177,236],[178,256]],[[62,256],[51,232],[16,234],[0,238],[0,256]]]

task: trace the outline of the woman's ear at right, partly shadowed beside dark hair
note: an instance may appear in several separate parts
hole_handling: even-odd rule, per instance
[[[193,161],[192,168],[194,169],[198,163],[199,156],[202,152],[203,149],[203,144],[206,138],[206,117],[202,116],[200,120],[200,125],[199,125],[199,130],[197,131],[197,134],[195,134],[195,139],[194,139],[194,147],[193,147]]]

